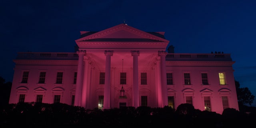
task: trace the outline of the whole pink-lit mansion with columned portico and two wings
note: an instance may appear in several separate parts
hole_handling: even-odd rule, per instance
[[[18,53],[9,103],[60,102],[86,109],[189,103],[220,114],[224,108],[238,110],[230,54],[174,53],[164,32],[127,24],[82,31],[75,41],[72,53]]]

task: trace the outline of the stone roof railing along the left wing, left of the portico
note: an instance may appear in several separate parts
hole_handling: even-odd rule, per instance
[[[18,52],[17,60],[78,60],[76,52]]]

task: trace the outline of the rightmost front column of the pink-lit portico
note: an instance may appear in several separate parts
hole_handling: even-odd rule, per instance
[[[166,64],[165,56],[167,52],[158,51],[158,56],[161,58],[161,85],[162,85],[162,107],[168,106],[168,97],[167,97],[167,78],[166,78]]]

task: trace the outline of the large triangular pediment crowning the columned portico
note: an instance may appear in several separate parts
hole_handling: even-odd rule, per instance
[[[92,34],[88,33],[81,32],[86,36],[76,40],[76,42],[169,42],[164,39],[164,32],[144,32],[126,24],[119,24]]]

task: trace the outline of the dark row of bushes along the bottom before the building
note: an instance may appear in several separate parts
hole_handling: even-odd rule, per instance
[[[224,128],[232,126],[251,126],[256,120],[255,111],[250,114],[227,108],[222,114],[200,111],[191,104],[180,104],[176,110],[150,108],[146,106],[123,107],[100,110],[86,110],[67,104],[18,103],[2,108],[0,126],[32,126],[36,128],[72,127],[197,127]]]

